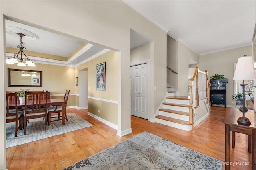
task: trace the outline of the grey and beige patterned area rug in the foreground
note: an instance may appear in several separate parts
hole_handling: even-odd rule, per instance
[[[222,161],[143,132],[63,170],[222,170]]]

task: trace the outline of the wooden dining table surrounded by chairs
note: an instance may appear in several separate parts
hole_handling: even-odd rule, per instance
[[[28,101],[27,105],[32,105],[32,101]],[[41,100],[41,104],[45,104],[46,100]],[[61,98],[55,98],[55,99],[47,99],[47,105],[46,107],[49,106],[62,106],[62,113],[65,113],[65,100],[61,99]],[[13,108],[15,107],[15,103],[9,103],[9,107]],[[25,107],[25,103],[20,103],[18,102],[18,108],[24,108]],[[65,116],[62,116],[62,125],[65,125]]]

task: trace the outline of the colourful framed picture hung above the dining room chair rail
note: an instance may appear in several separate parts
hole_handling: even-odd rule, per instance
[[[106,62],[96,65],[96,90],[106,90]]]

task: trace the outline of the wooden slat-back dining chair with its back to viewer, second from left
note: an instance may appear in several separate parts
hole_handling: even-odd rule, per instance
[[[47,100],[43,100],[42,95],[47,98],[48,92],[25,92],[25,107],[24,107],[24,135],[26,135],[27,121],[29,119],[46,118],[47,117]],[[32,100],[28,100],[28,96]],[[47,119],[44,119],[46,130]]]

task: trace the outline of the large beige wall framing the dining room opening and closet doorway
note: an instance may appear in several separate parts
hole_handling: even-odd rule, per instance
[[[20,10],[26,9],[26,10]],[[47,9],[47,12],[45,11]],[[43,15],[42,15],[43,14]],[[0,73],[5,72],[4,16],[54,33],[96,43],[118,51],[118,135],[130,133],[130,29],[145,35],[150,43],[150,117],[154,117],[166,94],[166,32],[120,0],[116,1],[0,1]],[[40,20],[38,19],[40,18]],[[77,74],[77,73],[76,73]],[[90,74],[88,72],[88,74]],[[6,80],[0,76],[0,94],[4,103]],[[156,87],[156,90],[154,90]],[[108,87],[107,87],[108,88]],[[76,88],[77,89],[77,88]],[[129,100],[128,100],[129,99]],[[5,127],[4,106],[0,124]],[[5,132],[0,132],[4,151]],[[5,151],[0,156],[5,164]]]

